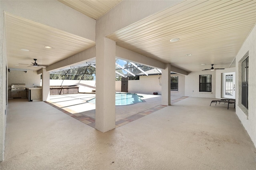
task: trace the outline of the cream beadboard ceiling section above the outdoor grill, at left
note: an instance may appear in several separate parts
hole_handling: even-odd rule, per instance
[[[51,65],[95,45],[94,41],[5,12],[8,68],[39,70],[28,67]],[[47,49],[44,46],[50,46]],[[29,51],[22,51],[28,49]]]

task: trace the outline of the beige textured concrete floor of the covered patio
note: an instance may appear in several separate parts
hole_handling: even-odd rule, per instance
[[[9,100],[0,169],[255,169],[235,109],[212,100],[188,97],[105,133],[44,102]]]

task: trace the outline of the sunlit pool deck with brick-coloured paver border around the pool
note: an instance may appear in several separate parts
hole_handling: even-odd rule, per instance
[[[116,106],[116,128],[166,107],[161,105],[161,95],[138,95],[143,96],[141,99],[144,102]],[[86,93],[51,95],[50,100],[46,103],[78,121],[95,128],[95,104],[88,102],[94,97],[95,94]],[[171,96],[171,104],[185,98],[182,96]]]

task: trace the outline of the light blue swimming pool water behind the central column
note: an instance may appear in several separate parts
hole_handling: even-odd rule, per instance
[[[131,105],[134,103],[143,102],[140,97],[142,96],[138,96],[135,93],[116,93],[116,106]],[[95,99],[96,98],[93,98],[88,102],[95,104]]]

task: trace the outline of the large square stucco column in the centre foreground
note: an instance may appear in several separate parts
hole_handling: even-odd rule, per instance
[[[115,75],[116,42],[96,39],[95,128],[101,132],[116,127]]]

